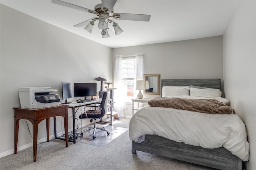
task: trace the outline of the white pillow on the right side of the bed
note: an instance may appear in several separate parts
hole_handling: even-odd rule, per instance
[[[205,98],[221,97],[220,89],[216,88],[190,88],[190,96],[198,96]]]

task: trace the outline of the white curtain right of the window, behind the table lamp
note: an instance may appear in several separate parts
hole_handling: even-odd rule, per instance
[[[136,98],[138,90],[136,90],[136,80],[143,80],[143,54],[135,54],[135,77],[134,77],[134,93]]]

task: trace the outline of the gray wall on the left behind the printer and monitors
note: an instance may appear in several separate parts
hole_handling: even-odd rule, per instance
[[[95,77],[112,81],[112,49],[0,4],[0,153],[14,152],[14,110],[19,107],[20,87],[50,86],[61,95],[61,82],[96,82]],[[100,83],[97,83],[100,90]],[[74,92],[72,92],[74,95]],[[72,101],[74,99],[70,99]],[[68,110],[68,117],[72,117]],[[79,119],[79,118],[78,118]],[[63,129],[57,117],[57,133]],[[72,118],[68,119],[69,129]],[[84,121],[83,123],[88,123]],[[30,132],[32,124],[28,121]],[[50,135],[53,135],[50,119]],[[46,123],[38,126],[38,140],[46,139]],[[32,146],[24,119],[20,120],[18,150]]]

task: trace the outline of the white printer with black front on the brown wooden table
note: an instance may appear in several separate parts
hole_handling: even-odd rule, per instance
[[[22,87],[19,89],[20,105],[23,108],[44,108],[58,106],[60,97],[58,94],[50,94],[58,90],[51,87]]]

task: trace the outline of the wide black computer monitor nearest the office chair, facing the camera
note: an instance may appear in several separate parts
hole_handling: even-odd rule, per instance
[[[96,96],[97,83],[74,83],[74,97]]]

